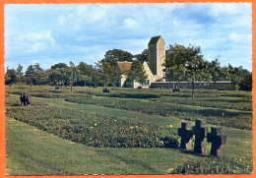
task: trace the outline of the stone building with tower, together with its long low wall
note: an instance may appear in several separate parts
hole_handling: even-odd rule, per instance
[[[165,61],[165,42],[163,38],[158,36],[153,36],[148,43],[148,58],[149,62],[143,63],[144,70],[147,75],[147,79],[144,83],[139,84],[135,81],[128,79],[128,73],[132,68],[133,62],[119,61],[117,62],[117,70],[122,74],[121,78],[117,82],[117,86],[121,88],[138,88],[142,86],[144,88],[172,88],[173,83],[175,86],[179,86],[180,89],[191,89],[191,82],[165,82],[164,80],[164,66]],[[196,89],[235,89],[234,85],[229,81],[222,82],[195,82]]]

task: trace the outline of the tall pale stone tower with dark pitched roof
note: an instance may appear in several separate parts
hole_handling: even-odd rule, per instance
[[[163,78],[162,66],[165,60],[165,42],[163,38],[153,36],[148,44],[148,55],[149,55],[149,67],[156,80]]]

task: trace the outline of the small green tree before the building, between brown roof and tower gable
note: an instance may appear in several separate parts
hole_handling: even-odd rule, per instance
[[[138,83],[140,83],[140,85],[142,83],[145,82],[145,80],[147,79],[147,75],[146,72],[143,68],[142,62],[140,61],[134,61],[131,67],[131,70],[128,73],[128,79],[133,82],[136,81]]]

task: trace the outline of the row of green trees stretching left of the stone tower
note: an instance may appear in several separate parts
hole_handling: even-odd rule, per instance
[[[27,85],[50,85],[50,86],[116,86],[121,73],[116,70],[117,61],[133,61],[132,69],[129,72],[131,80],[145,80],[147,76],[142,67],[142,62],[130,52],[120,49],[108,50],[104,58],[96,62],[96,66],[80,62],[75,66],[73,62],[69,66],[65,63],[58,63],[43,70],[39,63],[30,65],[26,72],[19,64],[17,69],[7,69],[5,84],[27,84]]]

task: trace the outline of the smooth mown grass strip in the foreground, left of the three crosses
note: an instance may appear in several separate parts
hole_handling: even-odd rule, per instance
[[[172,148],[92,148],[6,118],[9,175],[164,174],[188,159]],[[18,139],[19,138],[19,139]]]

